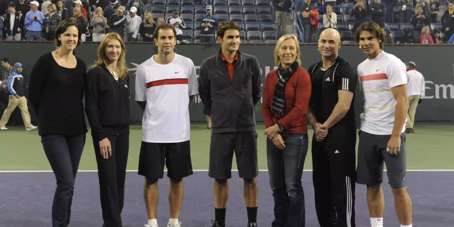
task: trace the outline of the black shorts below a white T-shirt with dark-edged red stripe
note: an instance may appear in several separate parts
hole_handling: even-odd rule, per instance
[[[182,179],[192,175],[191,146],[189,140],[180,143],[147,143],[142,141],[139,156],[139,175],[161,179],[164,162],[167,177]]]

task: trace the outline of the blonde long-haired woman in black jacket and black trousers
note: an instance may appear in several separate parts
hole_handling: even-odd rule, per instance
[[[118,33],[107,33],[98,60],[88,71],[85,111],[98,164],[99,191],[105,226],[122,226],[126,162],[129,150],[129,89],[126,47]]]

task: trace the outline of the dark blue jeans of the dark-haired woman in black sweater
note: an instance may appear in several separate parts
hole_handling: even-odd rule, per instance
[[[85,134],[77,136],[42,135],[41,143],[55,174],[56,189],[52,203],[52,227],[68,226],[74,182],[80,156],[85,144]]]

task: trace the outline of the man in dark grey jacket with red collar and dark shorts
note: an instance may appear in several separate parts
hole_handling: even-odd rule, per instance
[[[214,178],[213,227],[225,226],[227,180],[231,178],[235,151],[238,172],[243,178],[248,227],[257,226],[258,186],[257,133],[254,105],[261,97],[261,70],[257,59],[240,53],[240,27],[224,21],[217,31],[221,50],[200,66],[199,95],[211,110],[210,166]]]

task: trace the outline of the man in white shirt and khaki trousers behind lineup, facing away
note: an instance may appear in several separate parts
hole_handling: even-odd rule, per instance
[[[424,82],[424,76],[416,71],[416,64],[414,62],[408,62],[405,65],[407,65],[407,95],[409,103],[405,132],[414,133],[413,125],[415,124],[416,107],[422,101],[421,98],[425,93],[426,84]]]

